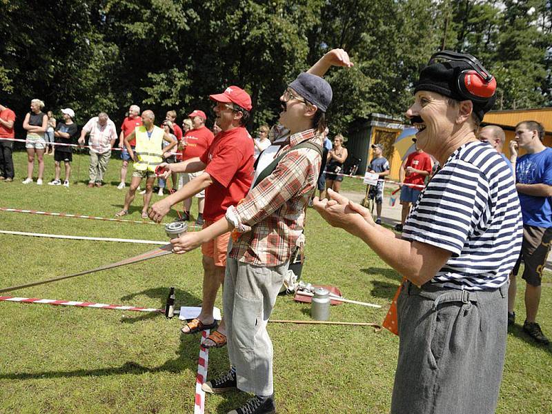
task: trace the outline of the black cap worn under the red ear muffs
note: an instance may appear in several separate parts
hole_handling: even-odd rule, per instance
[[[486,112],[489,112],[493,108],[496,94],[489,99],[477,100],[462,95],[458,86],[458,77],[463,70],[472,69],[469,64],[462,61],[446,61],[428,65],[420,72],[420,80],[415,84],[414,93],[419,90],[428,90],[456,99],[457,101],[472,101],[473,113],[481,121]]]

